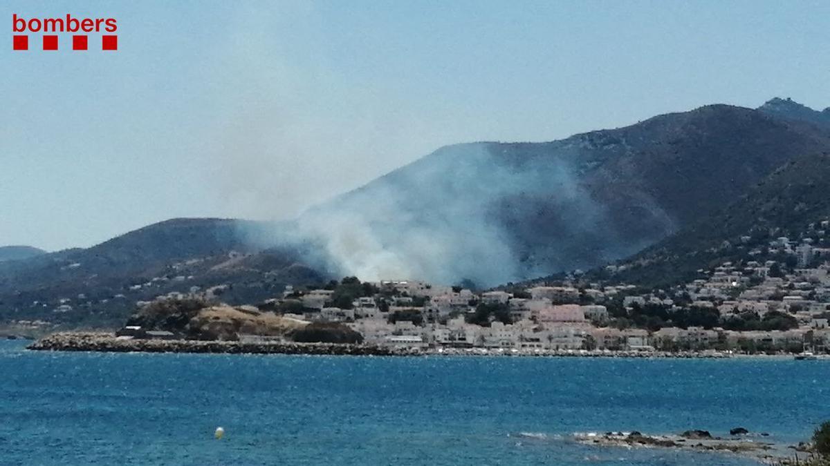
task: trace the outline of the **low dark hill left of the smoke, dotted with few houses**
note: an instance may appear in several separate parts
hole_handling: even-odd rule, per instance
[[[300,260],[309,255],[300,245],[256,246],[252,237],[275,228],[254,221],[175,219],[88,249],[0,263],[0,322],[116,326],[137,301],[163,294],[214,289],[227,303],[249,303],[281,294],[286,284],[323,280]]]

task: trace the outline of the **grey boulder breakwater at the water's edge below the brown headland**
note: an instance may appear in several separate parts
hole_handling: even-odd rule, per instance
[[[294,342],[220,342],[119,338],[110,333],[53,333],[27,347],[41,351],[78,352],[202,352],[223,354],[315,354],[349,356],[411,356],[408,348],[374,345]]]

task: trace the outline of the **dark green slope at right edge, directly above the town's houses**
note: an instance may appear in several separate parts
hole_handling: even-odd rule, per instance
[[[818,233],[819,223],[830,218],[828,190],[830,152],[793,158],[729,206],[622,261],[623,271],[613,280],[647,287],[678,284],[695,278],[698,269],[753,259],[749,251],[763,250],[779,236]],[[816,238],[819,245],[822,237]]]

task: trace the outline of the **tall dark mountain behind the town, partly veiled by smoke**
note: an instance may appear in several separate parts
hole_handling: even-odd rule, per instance
[[[816,125],[708,105],[550,143],[441,148],[300,228],[364,279],[495,285],[632,255],[828,148]]]

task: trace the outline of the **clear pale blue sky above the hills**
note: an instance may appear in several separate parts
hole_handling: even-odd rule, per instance
[[[451,143],[774,96],[830,106],[830,2],[34,2],[118,51],[0,54],[0,245],[291,218]]]

